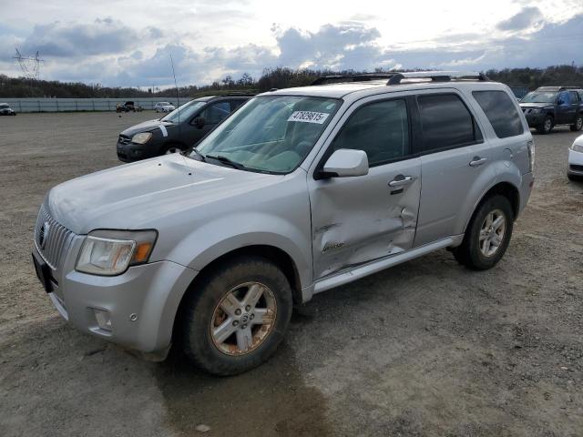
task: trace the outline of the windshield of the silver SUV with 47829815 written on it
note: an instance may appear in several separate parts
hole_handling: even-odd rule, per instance
[[[203,139],[197,149],[243,169],[289,173],[297,168],[340,105],[334,98],[255,97]],[[195,154],[190,155],[195,158]]]

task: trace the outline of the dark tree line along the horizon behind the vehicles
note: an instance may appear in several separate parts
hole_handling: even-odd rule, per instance
[[[377,68],[375,73],[391,71]],[[271,88],[309,85],[320,76],[362,74],[363,71],[292,69],[288,67],[265,68],[257,79],[248,73],[238,79],[227,75],[208,86],[179,86],[180,97],[199,97],[232,91],[262,92]],[[547,66],[546,68],[505,68],[483,72],[490,79],[508,86],[581,86],[583,87],[583,66]],[[176,97],[177,89],[137,88],[121,86],[87,85],[56,80],[31,80],[25,77],[0,75],[0,98],[2,97],[71,97],[71,98],[121,98],[121,97]]]

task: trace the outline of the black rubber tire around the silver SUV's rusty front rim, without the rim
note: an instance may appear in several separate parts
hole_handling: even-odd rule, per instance
[[[217,326],[213,325],[213,317],[230,290],[251,281],[264,284],[271,290],[276,302],[275,321],[255,349],[242,354],[227,354],[215,345],[212,338],[211,326]],[[196,288],[190,290],[185,305],[182,329],[187,356],[209,373],[236,375],[267,361],[280,345],[292,317],[292,289],[281,269],[267,259],[231,259],[205,275]]]

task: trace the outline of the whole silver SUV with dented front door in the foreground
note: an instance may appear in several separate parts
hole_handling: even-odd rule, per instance
[[[510,89],[451,72],[339,81],[254,97],[187,156],[52,188],[33,258],[56,309],[227,375],[265,361],[315,293],[437,249],[495,266],[533,186]]]

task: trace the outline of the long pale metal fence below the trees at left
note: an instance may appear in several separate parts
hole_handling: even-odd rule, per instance
[[[115,111],[118,103],[134,102],[144,109],[154,109],[157,102],[170,102],[176,106],[176,98],[0,98],[16,112],[71,112],[71,111]],[[180,104],[189,101],[180,97]]]

